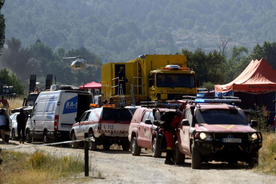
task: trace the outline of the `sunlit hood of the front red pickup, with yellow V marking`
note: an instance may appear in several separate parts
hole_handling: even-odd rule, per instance
[[[207,132],[255,132],[249,124],[195,124],[195,129]]]

